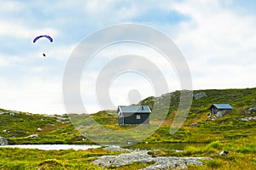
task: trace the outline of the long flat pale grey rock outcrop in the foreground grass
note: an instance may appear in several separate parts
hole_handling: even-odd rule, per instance
[[[152,157],[148,155],[147,150],[132,151],[131,153],[120,154],[119,156],[101,156],[92,163],[100,167],[121,167],[131,162],[149,163],[153,165],[143,168],[149,169],[170,169],[170,168],[188,168],[188,164],[202,165],[201,160],[207,160],[206,157],[176,157],[176,156],[159,156]]]

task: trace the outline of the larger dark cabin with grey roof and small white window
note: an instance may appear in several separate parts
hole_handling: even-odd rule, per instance
[[[149,124],[148,105],[119,105],[117,114],[119,125]]]

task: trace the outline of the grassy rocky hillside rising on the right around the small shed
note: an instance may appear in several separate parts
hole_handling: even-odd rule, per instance
[[[171,95],[169,115],[163,126],[154,133],[148,142],[211,142],[255,136],[256,130],[256,88],[195,90],[189,116],[183,127],[174,135],[168,129],[177,111],[180,92]],[[152,104],[153,97],[144,99],[142,104]],[[208,117],[212,104],[230,104],[233,111],[222,117]]]

